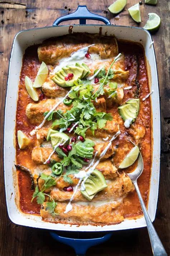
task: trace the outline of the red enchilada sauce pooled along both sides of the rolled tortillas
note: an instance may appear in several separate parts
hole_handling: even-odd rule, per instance
[[[148,199],[148,191],[150,184],[150,169],[151,169],[151,151],[152,151],[152,137],[151,137],[151,106],[150,106],[150,98],[147,98],[145,101],[142,101],[149,93],[148,87],[148,77],[146,70],[146,60],[144,57],[143,49],[140,45],[133,44],[131,42],[123,42],[118,41],[119,52],[123,52],[126,59],[124,62],[125,70],[130,71],[129,77],[133,77],[133,63],[134,63],[134,55],[137,56],[138,62],[138,75],[137,79],[140,85],[139,95],[140,98],[140,113],[136,122],[140,124],[142,121],[145,126],[145,136],[140,139],[140,151],[143,156],[144,162],[144,170],[140,178],[138,179],[138,185],[145,201],[147,204]],[[18,103],[17,103],[17,114],[16,114],[16,162],[17,164],[22,165],[22,161],[31,162],[31,153],[33,149],[33,144],[28,149],[20,150],[18,147],[17,141],[17,131],[22,130],[25,134],[29,135],[30,131],[34,129],[34,125],[31,125],[28,121],[28,118],[25,114],[25,109],[28,103],[34,103],[34,101],[29,97],[24,84],[25,76],[29,76],[31,79],[35,79],[37,75],[38,68],[41,63],[39,63],[38,55],[37,55],[38,46],[29,47],[24,54],[23,57],[23,66],[20,75],[20,84],[19,84],[19,94],[18,94]],[[129,80],[130,82],[130,80]],[[127,81],[128,83],[128,81]],[[129,84],[130,85],[130,84]],[[127,86],[129,86],[127,85]],[[41,94],[41,89],[38,89],[38,93]],[[134,91],[132,90],[124,90],[124,98],[123,102],[126,102],[128,99],[134,97]],[[117,105],[113,106],[113,109],[110,111],[114,114],[117,111]],[[127,130],[124,125],[120,125],[121,135],[118,139],[115,140],[115,144],[119,142],[120,147],[123,147],[125,138],[127,135]],[[35,135],[34,135],[35,136]],[[33,137],[34,140],[35,137]],[[34,141],[33,141],[34,142]],[[127,140],[126,140],[127,142]],[[130,147],[132,147],[131,143],[129,143]],[[128,153],[128,152],[127,152]],[[115,154],[114,156],[115,166],[119,163],[119,158]],[[127,168],[125,171],[131,171],[132,167]],[[28,214],[39,214],[40,205],[37,204],[36,200],[31,202],[32,195],[34,190],[30,190],[31,181],[30,177],[26,172],[17,171],[18,173],[18,184],[19,184],[19,192],[20,192],[20,209],[24,213]],[[126,198],[124,198],[124,205],[122,207],[122,212],[125,218],[127,217],[136,217],[142,214],[141,206],[137,197],[136,192],[129,193]]]

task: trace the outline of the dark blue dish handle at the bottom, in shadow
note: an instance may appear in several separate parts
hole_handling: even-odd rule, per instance
[[[99,237],[99,238],[75,239],[75,238],[61,237],[55,232],[50,232],[50,234],[52,238],[56,239],[57,241],[67,244],[72,248],[74,248],[77,256],[84,256],[88,248],[90,248],[91,246],[95,246],[97,244],[103,243],[112,236],[112,233],[108,233],[108,234],[105,234],[103,237]]]

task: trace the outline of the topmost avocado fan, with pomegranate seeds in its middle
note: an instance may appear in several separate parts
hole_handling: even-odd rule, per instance
[[[73,74],[73,77],[69,80],[65,80],[68,74]],[[74,82],[78,79],[83,79],[90,74],[89,67],[82,63],[76,63],[75,66],[67,65],[59,70],[52,80],[61,87],[71,87],[74,86]]]

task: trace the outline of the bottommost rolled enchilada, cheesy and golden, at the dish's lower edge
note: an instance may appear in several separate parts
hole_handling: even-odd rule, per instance
[[[79,224],[81,221],[81,224],[118,224],[124,220],[121,211],[117,209],[120,204],[121,202],[114,202],[96,207],[72,203],[72,210],[65,214],[67,203],[58,202],[56,215],[52,216],[46,203],[43,203],[40,214],[44,221],[53,223]]]

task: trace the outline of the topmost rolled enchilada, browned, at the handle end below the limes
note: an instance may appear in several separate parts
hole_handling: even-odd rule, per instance
[[[112,58],[118,55],[118,45],[115,37],[105,37],[98,35],[79,34],[65,35],[57,37],[56,40],[49,41],[38,47],[39,61],[46,64],[55,64],[61,58],[70,57],[75,51],[95,44],[88,50],[89,53],[97,53],[101,59]],[[77,42],[75,44],[75,42]]]

